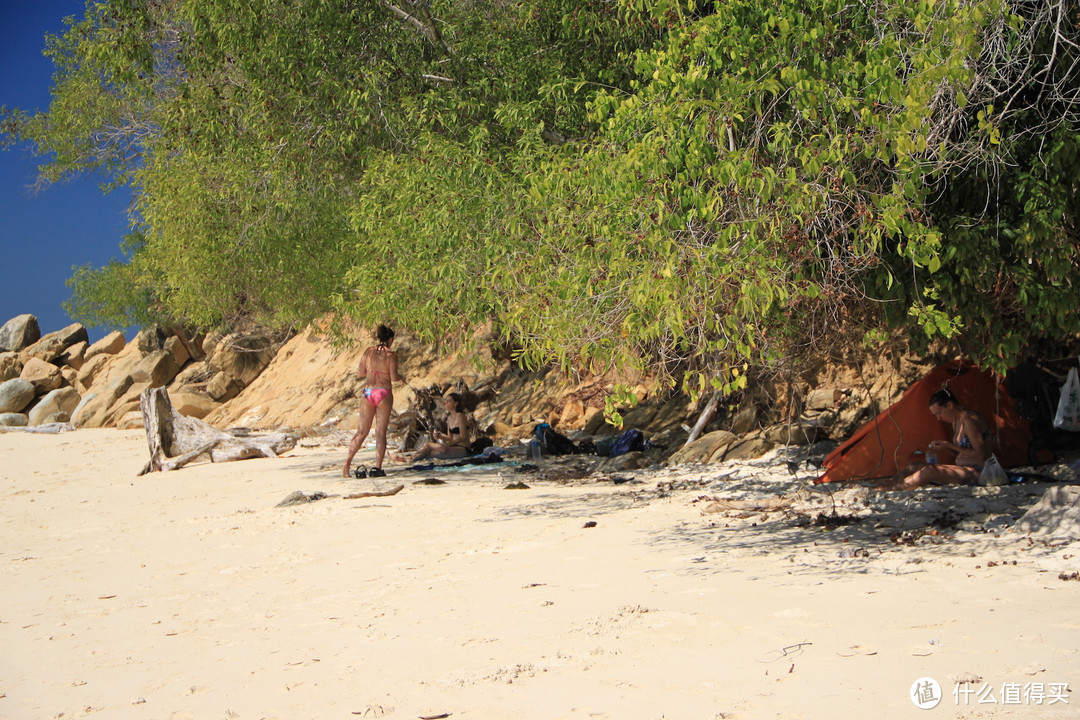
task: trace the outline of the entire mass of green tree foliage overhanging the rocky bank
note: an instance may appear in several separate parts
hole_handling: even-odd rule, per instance
[[[691,390],[886,336],[1080,331],[1080,24],[1049,0],[99,0],[43,177],[131,185],[90,322],[490,325]]]

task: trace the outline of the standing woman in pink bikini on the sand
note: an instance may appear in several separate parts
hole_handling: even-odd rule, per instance
[[[390,411],[394,407],[393,383],[401,382],[401,378],[397,377],[397,353],[390,350],[390,345],[394,342],[394,331],[386,325],[379,325],[375,330],[375,339],[378,344],[365,350],[363,357],[360,358],[360,369],[356,373],[364,379],[360,425],[352,441],[349,443],[349,454],[345,459],[341,477],[349,477],[352,459],[367,439],[373,419],[375,420],[375,467],[367,473],[367,476],[386,475],[382,470],[382,458],[387,453],[387,425],[390,423]]]

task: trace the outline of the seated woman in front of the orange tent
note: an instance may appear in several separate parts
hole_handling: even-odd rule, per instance
[[[931,440],[930,449],[956,453],[951,464],[913,463],[904,468],[901,489],[923,485],[975,485],[983,464],[993,452],[990,427],[974,410],[969,410],[947,390],[930,396],[930,412],[942,422],[953,423],[953,441]]]

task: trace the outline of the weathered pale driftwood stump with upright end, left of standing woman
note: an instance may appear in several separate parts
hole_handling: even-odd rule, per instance
[[[244,431],[238,435],[218,430],[198,418],[180,415],[164,388],[144,390],[139,396],[139,409],[146,426],[146,441],[150,447],[150,460],[139,475],[179,470],[203,457],[211,462],[276,458],[296,447],[297,436],[289,432],[252,435]]]

